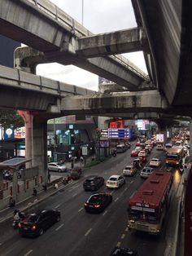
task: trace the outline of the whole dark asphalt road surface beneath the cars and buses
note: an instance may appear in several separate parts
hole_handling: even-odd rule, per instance
[[[132,147],[133,148],[133,147]],[[121,174],[124,166],[135,157],[127,152],[117,154],[103,164],[85,170],[80,180],[70,184],[54,196],[37,205],[34,210],[56,208],[61,211],[61,221],[55,223],[42,236],[37,238],[20,237],[11,227],[11,221],[0,225],[0,255],[3,256],[107,256],[116,245],[137,249],[142,256],[162,256],[170,246],[174,236],[177,207],[177,190],[181,181],[178,170],[174,170],[172,185],[172,207],[159,236],[146,233],[130,232],[127,228],[127,205],[129,196],[144,182],[139,172],[134,177],[126,178],[123,187],[117,190],[100,188],[100,192],[111,192],[113,201],[101,214],[88,214],[84,203],[94,192],[85,192],[82,183],[89,174],[101,174],[105,180],[111,174]],[[164,159],[164,152],[154,148],[148,159]],[[159,168],[164,168],[164,161]],[[170,243],[169,243],[170,241]]]

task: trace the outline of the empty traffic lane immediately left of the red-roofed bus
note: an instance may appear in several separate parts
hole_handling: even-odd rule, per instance
[[[138,177],[137,177],[138,178]],[[141,184],[141,179],[130,179],[120,189],[112,190],[111,207],[103,212],[103,221],[91,229],[89,237],[70,254],[70,256],[109,255],[117,244],[118,237],[128,220],[129,197]]]

